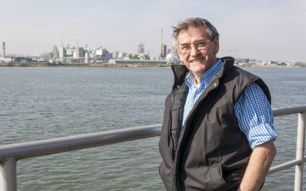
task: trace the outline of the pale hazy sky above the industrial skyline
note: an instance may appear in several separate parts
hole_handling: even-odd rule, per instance
[[[217,57],[257,60],[306,61],[306,1],[79,1],[1,0],[0,42],[6,53],[39,55],[55,44],[95,48],[110,52],[160,50],[161,28],[167,48],[172,28],[188,17],[209,20],[220,34]],[[1,43],[2,46],[2,43]],[[2,49],[2,47],[1,47]],[[2,53],[2,51],[1,51]]]

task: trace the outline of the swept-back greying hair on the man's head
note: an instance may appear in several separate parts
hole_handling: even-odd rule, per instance
[[[188,30],[189,27],[200,27],[200,26],[206,28],[206,30],[203,31],[203,33],[209,37],[209,40],[214,39],[216,36],[219,37],[217,29],[207,19],[202,19],[199,17],[187,18],[185,20],[181,20],[176,26],[172,27],[173,28],[172,38],[174,46],[178,48],[178,35],[180,34],[181,30]]]

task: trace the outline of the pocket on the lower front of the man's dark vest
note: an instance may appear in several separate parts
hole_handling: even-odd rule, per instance
[[[223,179],[221,163],[208,167],[208,170],[211,182],[216,190],[226,190],[231,188],[231,186]]]

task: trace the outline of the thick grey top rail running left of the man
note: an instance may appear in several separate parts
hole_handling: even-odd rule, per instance
[[[160,135],[161,128],[162,124],[156,124],[12,145],[2,145],[0,146],[0,163],[9,157],[20,160],[35,156],[155,137]]]

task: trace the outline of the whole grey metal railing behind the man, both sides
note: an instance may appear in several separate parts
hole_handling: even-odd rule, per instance
[[[271,167],[268,174],[295,166],[294,190],[301,191],[306,105],[274,108],[274,117],[298,113],[296,159]],[[0,146],[0,191],[17,190],[17,160],[159,136],[162,124]]]

